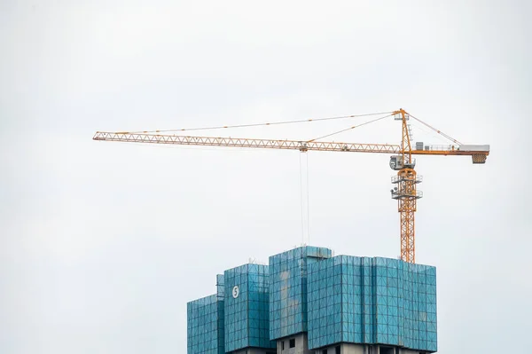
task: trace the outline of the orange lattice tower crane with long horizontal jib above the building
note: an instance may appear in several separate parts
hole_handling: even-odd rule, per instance
[[[170,131],[176,130],[153,130],[141,132],[105,132],[97,131],[93,137],[94,140],[103,141],[118,141],[129,143],[147,143],[147,144],[170,144],[178,146],[227,146],[227,147],[247,147],[247,148],[264,148],[264,149],[285,149],[285,150],[299,150],[301,153],[309,151],[329,151],[329,152],[344,152],[344,153],[389,153],[390,168],[397,171],[396,176],[392,177],[391,181],[395,187],[391,190],[392,199],[397,201],[397,210],[400,214],[401,226],[401,259],[408,263],[416,262],[416,244],[415,244],[415,223],[414,213],[417,210],[417,201],[423,196],[421,191],[418,191],[417,185],[422,182],[422,177],[418,176],[415,170],[416,161],[412,155],[440,155],[440,156],[471,156],[473,164],[485,163],[489,155],[489,145],[464,145],[454,138],[444,134],[442,131],[435,129],[426,122],[419,120],[411,114],[408,114],[403,108],[387,112],[389,115],[381,117],[378,121],[389,116],[393,116],[396,121],[401,121],[402,125],[402,139],[399,145],[391,144],[359,144],[359,143],[340,143],[340,142],[324,142],[312,140],[275,140],[275,139],[256,139],[256,138],[212,138],[212,137],[197,137],[169,134]],[[336,118],[357,117],[360,114],[350,115]],[[445,138],[450,139],[452,144],[447,146],[429,146],[423,143],[416,143],[412,147],[410,119],[421,122],[426,127],[434,130]],[[317,120],[305,120],[294,122],[312,122]],[[372,121],[372,122],[375,122]],[[288,123],[288,122],[278,122]],[[366,122],[367,123],[367,122]],[[364,123],[365,124],[365,123]],[[359,124],[352,126],[347,130],[354,129]],[[265,124],[247,124],[242,126],[254,125],[270,125]],[[235,126],[235,127],[242,127]],[[215,128],[230,128],[228,126]],[[340,130],[345,131],[345,130]],[[332,134],[331,134],[332,135]],[[322,137],[325,138],[325,137]]]

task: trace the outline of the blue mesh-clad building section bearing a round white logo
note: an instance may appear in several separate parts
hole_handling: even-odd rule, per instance
[[[245,264],[224,272],[225,350],[275,348],[270,342],[269,271]]]

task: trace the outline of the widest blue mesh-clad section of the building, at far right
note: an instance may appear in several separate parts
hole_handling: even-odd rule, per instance
[[[436,270],[337,256],[309,266],[309,349],[337,342],[437,350]]]

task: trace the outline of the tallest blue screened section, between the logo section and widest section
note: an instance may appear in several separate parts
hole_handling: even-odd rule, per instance
[[[307,269],[330,258],[328,248],[294,248],[270,256],[270,339],[307,331]]]

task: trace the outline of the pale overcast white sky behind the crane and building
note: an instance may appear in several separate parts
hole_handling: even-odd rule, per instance
[[[184,353],[186,302],[213,294],[217,272],[301,243],[298,152],[112,144],[96,130],[399,107],[492,148],[485,165],[418,159],[439,352],[525,347],[529,2],[149,3],[0,3],[0,352]],[[350,124],[215,133],[314,138]],[[399,138],[389,121],[336,139]],[[309,154],[311,244],[399,254],[387,163]]]

